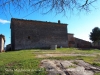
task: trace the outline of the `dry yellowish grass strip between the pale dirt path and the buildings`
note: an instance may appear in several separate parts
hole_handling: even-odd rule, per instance
[[[77,48],[58,48],[57,50],[35,50],[34,51],[37,54],[56,54],[56,53],[66,53],[66,54],[98,54],[100,53],[100,50],[98,49],[90,49],[90,50],[82,50]]]

